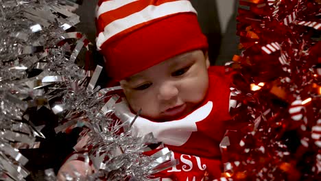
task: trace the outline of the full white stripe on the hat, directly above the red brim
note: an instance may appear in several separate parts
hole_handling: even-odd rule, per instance
[[[140,12],[112,21],[112,23],[104,27],[104,32],[99,33],[96,39],[97,49],[100,50],[100,47],[106,40],[126,29],[130,29],[130,27],[180,12],[193,12],[197,14],[190,1],[172,1],[161,5],[148,5]]]

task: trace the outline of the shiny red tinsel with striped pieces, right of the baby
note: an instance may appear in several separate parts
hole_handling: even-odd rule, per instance
[[[320,15],[320,1],[239,1],[221,180],[321,180]]]

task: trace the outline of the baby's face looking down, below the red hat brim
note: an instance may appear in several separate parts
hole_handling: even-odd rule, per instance
[[[208,56],[196,50],[136,73],[121,86],[130,107],[156,121],[183,117],[197,106],[209,87]]]

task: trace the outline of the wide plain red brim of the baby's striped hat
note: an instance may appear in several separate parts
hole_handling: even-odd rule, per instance
[[[106,71],[113,80],[123,80],[181,53],[208,47],[194,13],[169,15],[139,26],[101,46]]]

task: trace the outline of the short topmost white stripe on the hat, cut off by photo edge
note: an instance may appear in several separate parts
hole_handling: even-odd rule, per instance
[[[108,11],[116,10],[117,8],[121,8],[121,6],[132,3],[134,1],[138,0],[110,0],[110,1],[104,1],[99,7],[99,9],[96,11],[96,17],[98,18],[100,14],[103,14]]]

